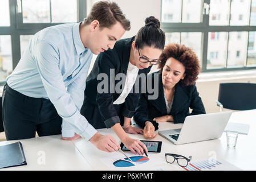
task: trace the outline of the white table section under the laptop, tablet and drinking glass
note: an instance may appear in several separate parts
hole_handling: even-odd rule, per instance
[[[256,110],[234,112],[232,113],[229,122],[246,123],[250,125],[248,135],[238,135],[237,147],[235,148],[227,147],[226,133],[223,133],[222,137],[219,139],[181,145],[175,145],[159,135],[153,140],[162,141],[162,150],[160,154],[155,155],[164,162],[165,153],[180,154],[187,157],[192,155],[192,162],[202,159],[217,158],[226,160],[227,162],[243,170],[256,170]],[[166,122],[160,123],[159,130],[178,129],[181,127],[182,124],[173,124],[172,122]],[[120,142],[120,139],[117,138],[117,135],[111,129],[100,129],[99,132],[104,135],[111,134]],[[140,134],[129,134],[129,136],[132,138],[144,139],[144,137]],[[76,140],[73,141],[73,143],[84,156],[84,158],[87,159],[87,162],[94,170],[109,170],[110,168],[103,164],[100,159],[111,155],[119,154],[118,152],[112,152],[111,154],[109,154],[103,151],[99,151],[91,143],[85,142],[84,140]],[[163,168],[162,164],[155,167],[155,169],[159,168]],[[179,169],[177,168],[177,165],[173,166],[173,164],[168,163],[164,164],[164,168],[169,170]],[[121,168],[116,169],[120,170]],[[138,166],[133,169],[151,170],[154,168],[140,168]]]

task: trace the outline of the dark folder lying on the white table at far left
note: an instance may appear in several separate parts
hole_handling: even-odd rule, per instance
[[[27,165],[21,142],[0,146],[0,168]]]

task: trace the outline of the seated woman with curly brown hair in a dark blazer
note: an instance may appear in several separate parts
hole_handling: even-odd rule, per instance
[[[158,122],[183,123],[188,115],[205,114],[196,88],[200,73],[196,53],[184,45],[169,44],[162,52],[160,61],[160,71],[149,75],[152,82],[155,76],[159,76],[159,96],[151,100],[148,90],[141,94],[133,116],[136,123],[144,128],[143,134],[147,139],[157,136],[154,131],[158,129]]]

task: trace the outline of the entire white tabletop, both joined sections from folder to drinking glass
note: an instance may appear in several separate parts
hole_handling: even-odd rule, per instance
[[[177,170],[177,164],[168,164],[165,162],[165,153],[174,153],[184,156],[192,155],[192,162],[201,159],[209,159],[216,156],[218,159],[224,159],[243,170],[256,170],[256,110],[238,111],[231,115],[229,122],[246,123],[250,125],[248,135],[238,135],[237,147],[229,148],[226,146],[226,133],[219,139],[203,142],[174,145],[160,135],[153,140],[162,141],[162,150],[157,156],[164,164],[154,168],[140,168],[136,166],[132,170],[152,170],[165,168]],[[182,124],[173,124],[171,122],[160,123],[159,130],[178,129]],[[112,129],[100,129],[101,134],[111,134],[119,142],[120,139]],[[143,135],[128,134],[132,138],[144,139]],[[79,139],[75,141],[60,140],[60,135],[39,137],[32,139],[19,140],[23,144],[27,166],[5,168],[1,170],[110,170],[108,166],[101,162],[101,158],[107,158],[113,155],[120,155],[119,152],[107,153],[98,150],[93,144],[86,140]],[[13,143],[16,141],[0,142],[0,145]],[[45,164],[40,164],[42,151],[46,156]],[[120,168],[117,168],[120,170]],[[129,169],[130,170],[130,169]]]

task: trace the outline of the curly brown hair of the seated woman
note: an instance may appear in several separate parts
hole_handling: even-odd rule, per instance
[[[182,85],[194,85],[197,80],[197,76],[200,73],[200,62],[196,53],[192,51],[191,48],[188,48],[180,44],[168,44],[165,46],[164,51],[160,55],[161,63],[159,64],[160,73],[170,57],[180,61],[185,67],[185,78],[180,80]]]

